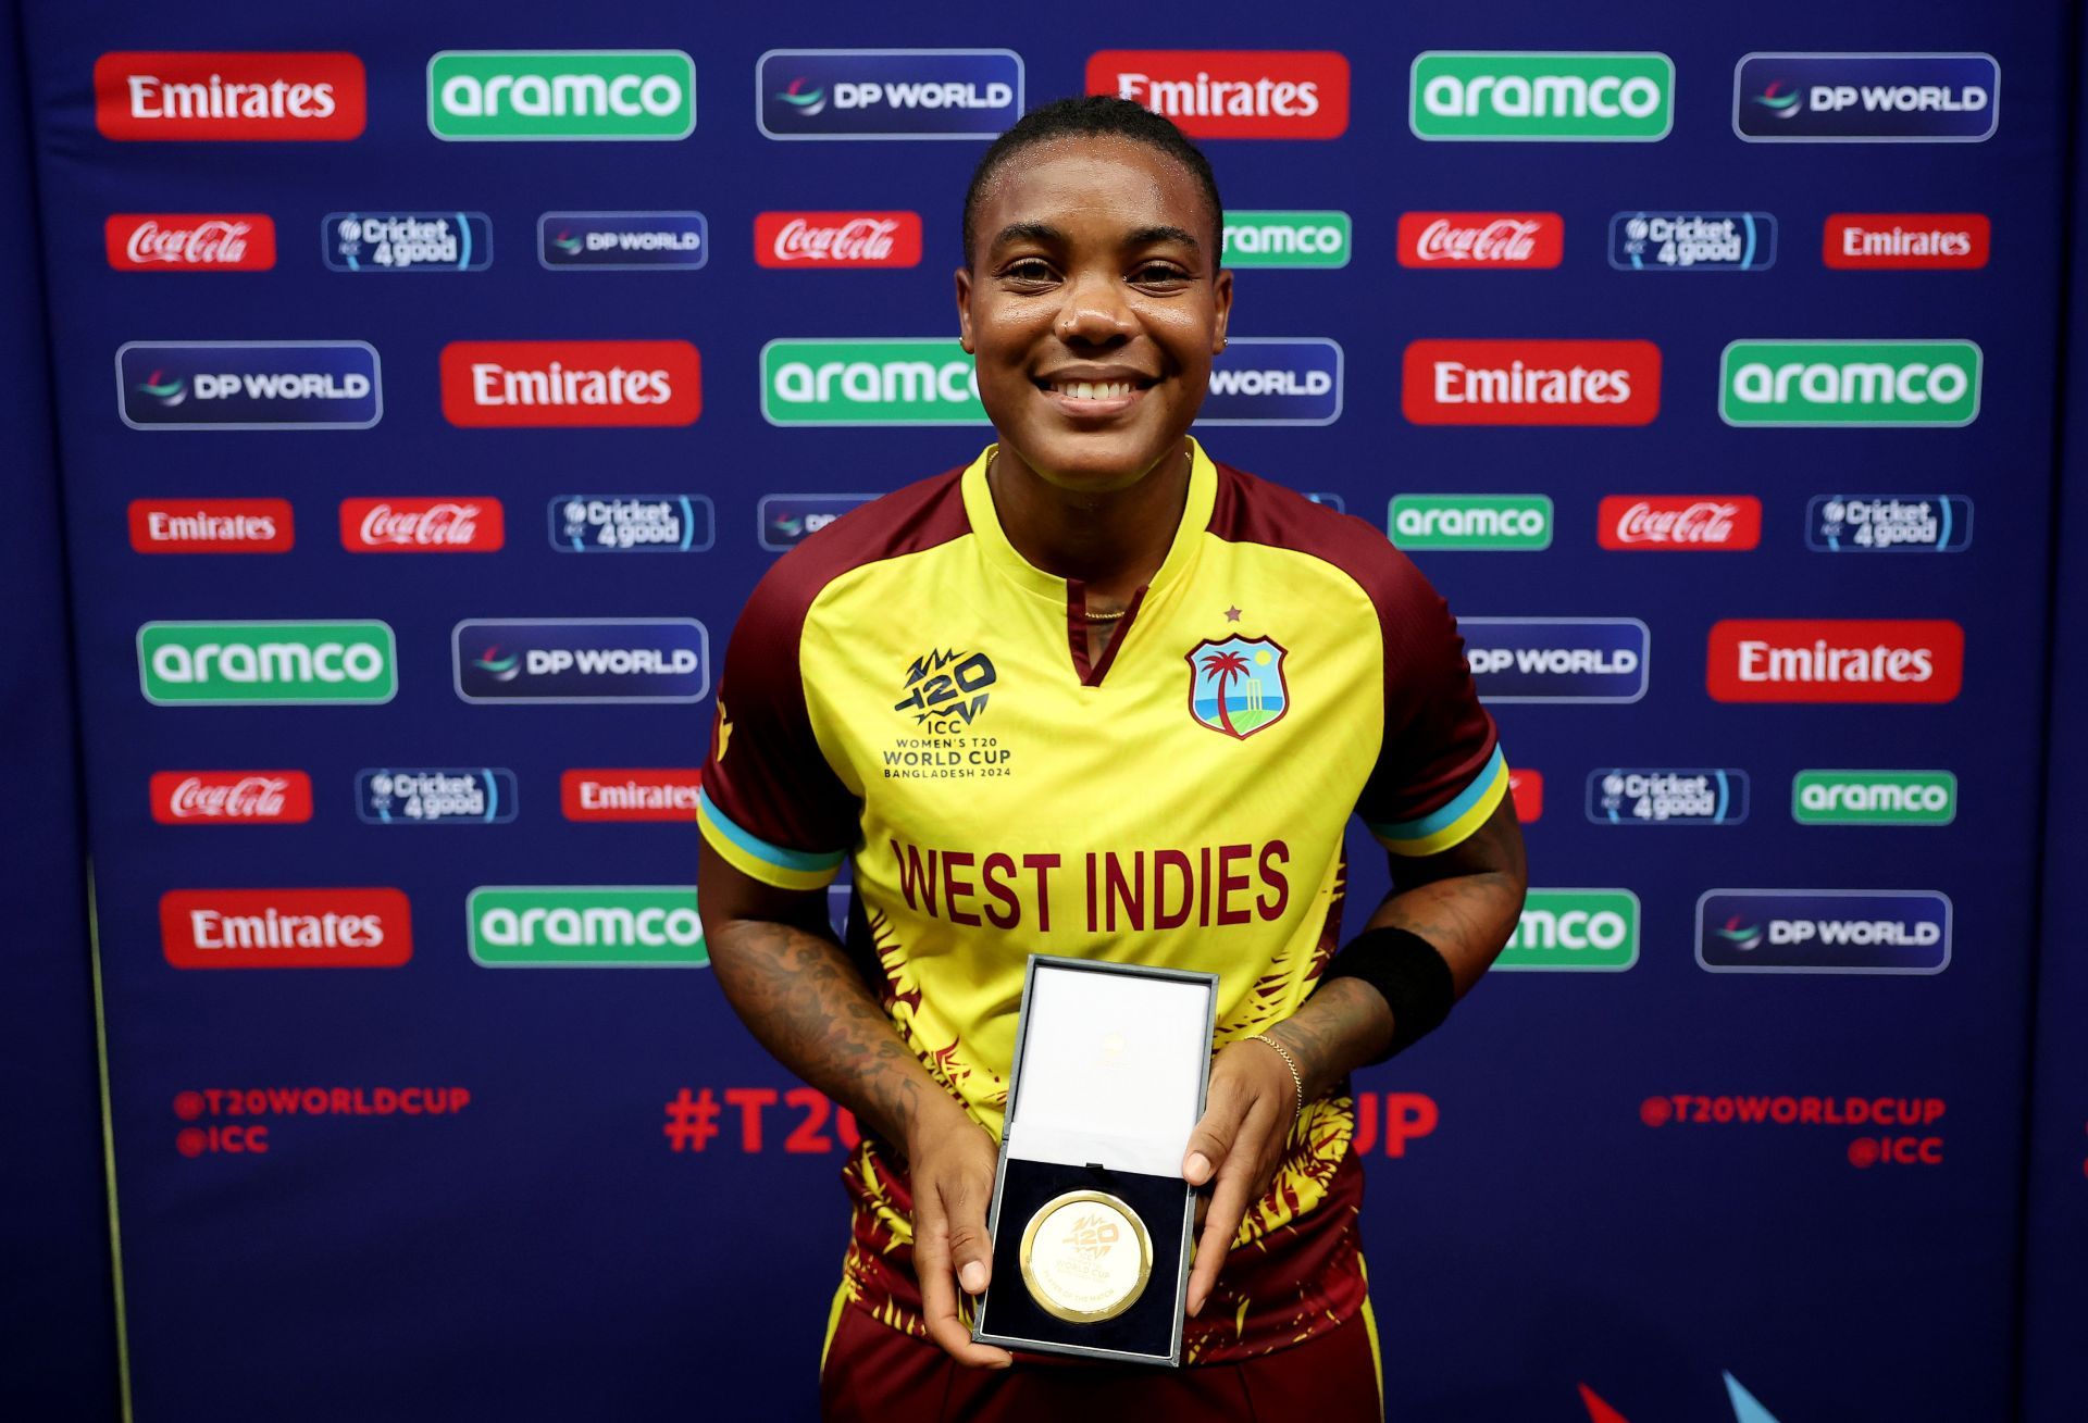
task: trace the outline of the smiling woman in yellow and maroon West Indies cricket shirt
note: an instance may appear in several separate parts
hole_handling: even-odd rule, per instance
[[[1188,438],[1232,273],[1203,154],[1115,98],[988,148],[956,273],[996,444],[783,557],[699,820],[718,983],[869,1127],[829,1419],[1380,1417],[1351,1068],[1493,962],[1522,843],[1443,601]],[[1399,891],[1336,954],[1361,814]],[[844,947],[825,885],[844,858]],[[1025,956],[1217,972],[1186,1369],[971,1344]],[[1228,1254],[1230,1248],[1230,1254]]]

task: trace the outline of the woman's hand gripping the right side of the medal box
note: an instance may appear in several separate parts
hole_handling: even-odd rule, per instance
[[[1270,1189],[1297,1120],[1299,1089],[1282,1054],[1240,1039],[1211,1064],[1205,1102],[1203,1120],[1188,1133],[1182,1158],[1184,1181],[1199,1187],[1215,1181],[1196,1237],[1196,1267],[1188,1277],[1190,1315],[1211,1298],[1247,1208]]]

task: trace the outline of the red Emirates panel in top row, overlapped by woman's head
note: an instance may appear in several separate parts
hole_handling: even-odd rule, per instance
[[[1340,138],[1349,58],[1334,50],[1102,50],[1088,92],[1144,104],[1190,138]]]

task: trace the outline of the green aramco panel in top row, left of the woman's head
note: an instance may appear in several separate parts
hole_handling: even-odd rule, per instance
[[[681,50],[443,50],[428,58],[443,140],[672,140],[695,131]]]

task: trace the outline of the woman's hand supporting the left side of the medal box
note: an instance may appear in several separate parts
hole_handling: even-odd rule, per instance
[[[1263,1047],[1261,1052],[1267,1052]],[[1274,1054],[1270,1054],[1274,1056]],[[906,1160],[915,1196],[915,1275],[927,1335],[960,1365],[1006,1369],[1015,1356],[973,1344],[956,1317],[956,1289],[983,1294],[994,1269],[986,1208],[994,1198],[994,1139],[965,1108],[944,1100],[929,1123],[908,1133]]]

